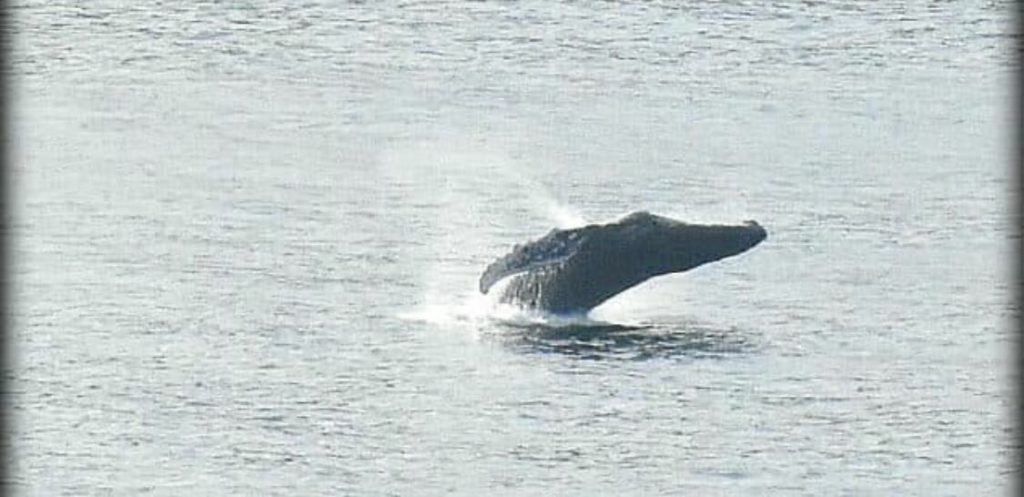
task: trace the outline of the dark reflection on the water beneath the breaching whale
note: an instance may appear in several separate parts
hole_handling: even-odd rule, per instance
[[[722,358],[755,348],[737,329],[692,323],[627,326],[500,324],[498,339],[526,354],[561,354],[588,360]]]

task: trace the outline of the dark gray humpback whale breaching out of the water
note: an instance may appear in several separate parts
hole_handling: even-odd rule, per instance
[[[512,277],[500,300],[553,314],[583,314],[644,281],[750,250],[768,237],[756,221],[689,224],[634,212],[607,224],[552,230],[516,245],[480,276],[487,293]]]

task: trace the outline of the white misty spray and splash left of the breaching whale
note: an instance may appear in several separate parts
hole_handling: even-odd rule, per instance
[[[384,181],[406,202],[423,206],[419,214],[429,225],[423,256],[430,260],[419,275],[422,303],[402,312],[401,319],[441,326],[475,327],[485,322],[547,326],[590,323],[580,318],[552,317],[497,301],[476,291],[481,260],[497,257],[496,246],[511,247],[520,240],[496,242],[523,213],[554,223],[578,227],[587,223],[575,209],[561,202],[504,147],[485,139],[446,136],[383,151],[378,158]],[[499,227],[500,226],[500,227]]]

